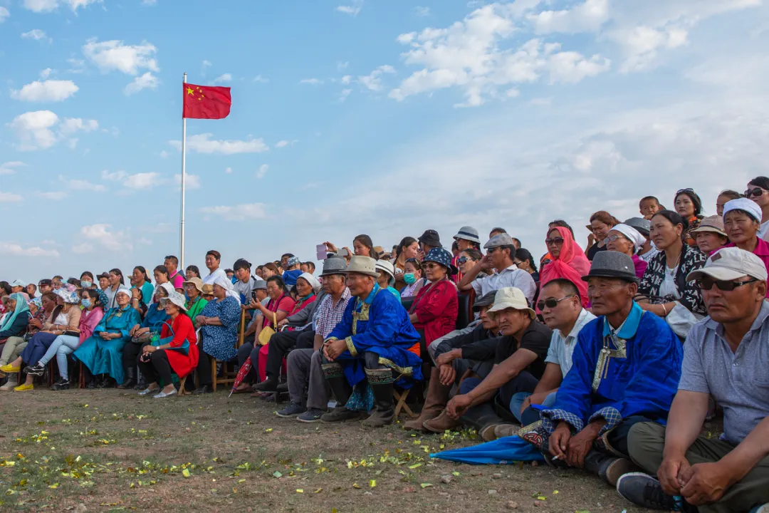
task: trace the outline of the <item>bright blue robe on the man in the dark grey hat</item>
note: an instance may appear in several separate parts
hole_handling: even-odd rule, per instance
[[[614,333],[604,316],[594,319],[579,332],[573,365],[555,404],[541,412],[544,429],[552,433],[558,421],[567,421],[581,431],[604,418],[604,434],[633,415],[664,424],[681,378],[683,354],[670,326],[636,303]]]

